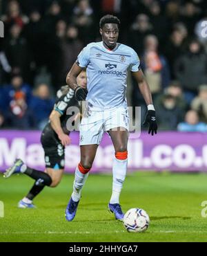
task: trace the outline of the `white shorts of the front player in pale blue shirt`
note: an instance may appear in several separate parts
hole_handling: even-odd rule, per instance
[[[80,125],[79,145],[99,145],[103,132],[117,127],[129,131],[128,109],[125,107],[90,111],[88,115],[84,113]]]

